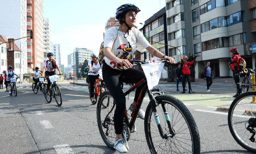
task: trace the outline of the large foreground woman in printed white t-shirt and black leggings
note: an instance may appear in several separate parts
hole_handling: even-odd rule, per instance
[[[114,114],[116,142],[114,148],[119,153],[127,152],[121,136],[125,113],[125,96],[120,86],[121,81],[119,77],[122,78],[124,83],[134,84],[145,77],[143,71],[133,68],[129,62],[129,60],[132,60],[134,51],[136,49],[139,51],[146,49],[152,55],[158,58],[166,58],[171,63],[174,63],[173,58],[164,55],[152,47],[143,34],[134,28],[136,26],[136,15],[139,11],[140,9],[133,4],[124,4],[118,7],[116,19],[119,20],[121,26],[109,28],[104,38],[105,62],[103,63],[102,74],[105,84],[116,102]],[[117,64],[120,64],[121,67],[118,67]],[[135,107],[143,87],[144,85],[140,85],[136,89],[131,109]],[[140,109],[138,115],[144,119],[145,112]]]

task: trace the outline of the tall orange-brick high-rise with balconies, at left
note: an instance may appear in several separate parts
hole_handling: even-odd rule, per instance
[[[44,65],[44,12],[43,0],[27,0],[28,32],[33,31],[33,39],[28,39],[28,73],[33,73],[35,67],[43,70]]]

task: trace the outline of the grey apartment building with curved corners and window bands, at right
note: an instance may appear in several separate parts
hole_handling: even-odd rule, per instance
[[[166,0],[168,45],[178,47],[182,56],[198,56],[196,78],[207,61],[214,76],[233,76],[226,64],[231,48],[238,49],[247,67],[255,62],[246,48],[255,42],[251,13],[248,0]],[[177,49],[168,47],[168,55],[180,61]]]

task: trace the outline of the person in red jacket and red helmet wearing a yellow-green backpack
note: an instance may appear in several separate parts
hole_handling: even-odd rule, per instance
[[[231,65],[231,69],[233,71],[233,78],[236,83],[236,94],[233,97],[237,97],[239,94],[241,94],[241,89],[242,86],[239,84],[240,83],[240,74],[241,70],[238,67],[239,64],[239,57],[240,54],[238,53],[237,48],[232,48],[230,49],[230,59],[228,65]]]

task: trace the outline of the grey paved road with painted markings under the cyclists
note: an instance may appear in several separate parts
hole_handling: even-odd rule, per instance
[[[63,98],[61,107],[55,100],[47,103],[41,92],[34,94],[30,85],[18,86],[17,97],[8,96],[8,92],[0,89],[0,153],[115,153],[101,139],[96,105],[91,104],[86,86],[73,87],[68,82],[59,85]],[[215,111],[218,106],[231,104],[234,85],[212,85],[211,93],[202,94],[198,93],[206,91],[205,85],[192,85],[195,94],[180,94],[173,84],[159,84],[158,87],[183,101],[192,113],[199,129],[202,154],[250,153],[231,136],[227,113]],[[231,91],[226,90],[227,87]],[[124,90],[128,88],[124,85]],[[132,97],[134,92],[127,100],[127,108]],[[148,102],[146,96],[142,103],[144,110]],[[136,126],[137,132],[129,141],[129,153],[149,153],[143,121],[137,119]]]

